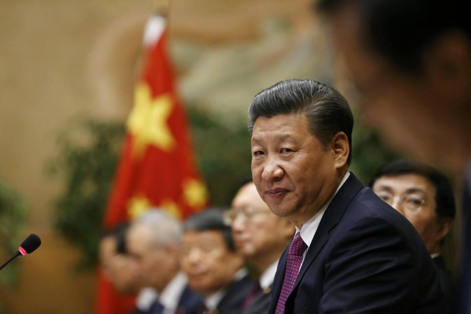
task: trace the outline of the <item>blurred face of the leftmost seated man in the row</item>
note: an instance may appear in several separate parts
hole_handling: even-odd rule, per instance
[[[116,291],[130,293],[138,289],[138,278],[129,256],[117,254],[116,239],[107,236],[100,242],[100,261],[105,276]]]

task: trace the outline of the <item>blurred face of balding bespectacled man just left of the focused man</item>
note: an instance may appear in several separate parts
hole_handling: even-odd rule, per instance
[[[286,219],[270,211],[254,183],[238,190],[231,215],[235,246],[248,260],[271,258],[274,253],[280,255],[289,235],[294,233],[294,227]]]

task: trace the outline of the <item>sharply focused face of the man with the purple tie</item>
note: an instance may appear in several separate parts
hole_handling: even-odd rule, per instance
[[[334,193],[335,154],[309,132],[304,114],[259,117],[251,146],[254,183],[275,215],[299,227]]]

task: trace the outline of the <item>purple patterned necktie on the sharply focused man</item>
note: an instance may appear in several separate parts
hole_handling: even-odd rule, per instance
[[[285,313],[285,303],[289,294],[291,294],[291,291],[294,289],[299,267],[303,262],[303,253],[307,247],[308,246],[304,243],[298,232],[289,246],[288,258],[286,260],[285,280],[283,281],[283,287],[281,288],[281,293],[278,297],[275,314]]]

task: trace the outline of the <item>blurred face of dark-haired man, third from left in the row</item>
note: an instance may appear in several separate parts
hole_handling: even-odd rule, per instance
[[[190,288],[209,296],[233,280],[243,261],[227,248],[220,231],[187,231],[183,235],[181,264]]]

